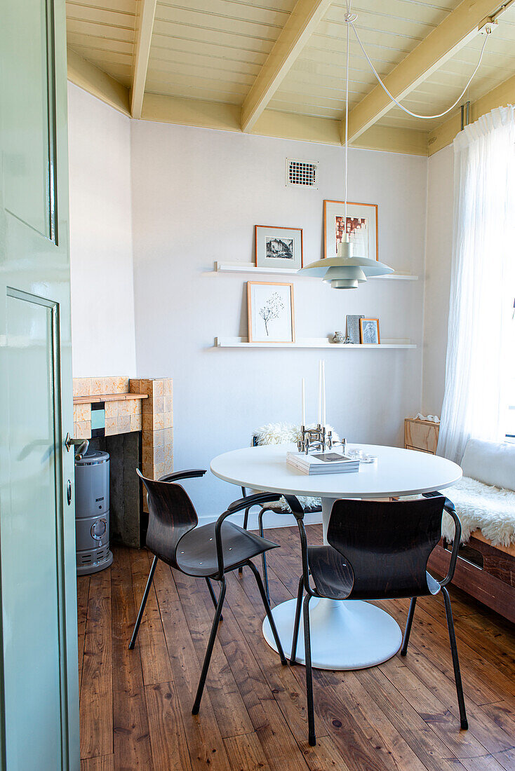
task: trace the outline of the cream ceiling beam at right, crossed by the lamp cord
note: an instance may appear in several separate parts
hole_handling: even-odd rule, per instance
[[[501,0],[502,2],[502,0]],[[395,99],[404,99],[466,45],[501,5],[500,0],[462,0],[383,80]],[[498,14],[496,14],[498,15]],[[351,31],[351,35],[354,34]],[[349,143],[394,106],[378,84],[349,113]],[[344,121],[342,137],[344,137]]]

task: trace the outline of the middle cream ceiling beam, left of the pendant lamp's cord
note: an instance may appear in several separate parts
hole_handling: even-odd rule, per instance
[[[242,131],[252,131],[330,5],[331,0],[297,0],[242,104]]]

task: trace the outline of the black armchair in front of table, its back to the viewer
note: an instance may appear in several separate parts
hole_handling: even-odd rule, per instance
[[[285,496],[300,530],[303,574],[299,581],[290,665],[296,663],[303,592],[304,647],[310,745],[316,744],[313,710],[313,676],[310,648],[310,599],[387,600],[412,598],[401,655],[408,650],[409,633],[417,597],[442,591],[446,605],[452,664],[462,729],[469,727],[459,672],[458,649],[447,584],[458,558],[461,524],[452,501],[439,493],[426,493],[425,500],[391,503],[368,500],[337,500],[327,528],[327,546],[308,546],[303,510],[295,496]],[[449,572],[437,581],[427,570],[429,555],[442,534],[442,513],[449,512],[456,525]],[[310,586],[310,577],[314,587]],[[343,642],[344,644],[344,642]]]

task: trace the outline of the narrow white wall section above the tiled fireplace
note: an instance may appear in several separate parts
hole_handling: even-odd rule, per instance
[[[68,84],[73,375],[134,375],[130,120]]]

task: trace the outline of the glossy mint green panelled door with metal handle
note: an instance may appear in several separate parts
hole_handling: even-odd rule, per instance
[[[0,0],[0,769],[78,771],[64,0]]]

